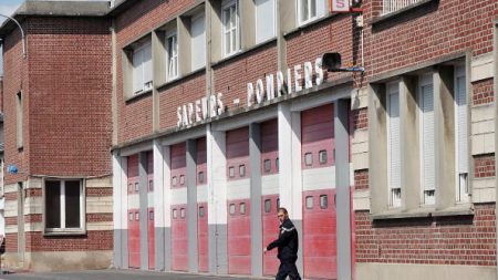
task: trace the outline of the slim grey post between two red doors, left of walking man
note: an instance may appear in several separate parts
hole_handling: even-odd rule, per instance
[[[249,126],[249,162],[251,167],[251,274],[262,277],[261,131],[259,124]]]

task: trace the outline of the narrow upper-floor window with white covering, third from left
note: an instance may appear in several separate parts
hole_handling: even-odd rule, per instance
[[[191,17],[190,21],[191,70],[206,66],[206,17],[204,13]]]

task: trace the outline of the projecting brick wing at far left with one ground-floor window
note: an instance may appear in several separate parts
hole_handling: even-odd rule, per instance
[[[14,17],[25,55],[17,25],[0,29],[10,270],[111,266],[107,11],[106,2],[24,2]]]

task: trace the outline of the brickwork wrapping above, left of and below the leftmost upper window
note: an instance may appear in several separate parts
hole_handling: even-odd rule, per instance
[[[153,132],[153,102],[152,95],[125,102],[123,89],[123,63],[122,50],[134,40],[149,33],[154,28],[175,19],[180,11],[194,7],[194,0],[147,0],[136,1],[134,6],[116,18],[116,52],[117,52],[117,115],[118,115],[118,142],[151,135]],[[203,89],[206,86],[203,85]],[[194,100],[193,100],[194,101]],[[178,105],[176,105],[178,106]],[[163,108],[162,108],[163,111]],[[176,107],[169,114],[175,120]],[[169,117],[169,116],[168,116]],[[169,120],[160,117],[165,122],[162,127],[169,125]],[[167,117],[166,117],[167,118]],[[173,123],[173,122],[172,122]]]

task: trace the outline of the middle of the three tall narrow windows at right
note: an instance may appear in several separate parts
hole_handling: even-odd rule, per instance
[[[421,174],[423,204],[434,205],[436,193],[436,162],[434,149],[434,86],[432,75],[421,79],[418,86],[418,105],[421,107]]]

